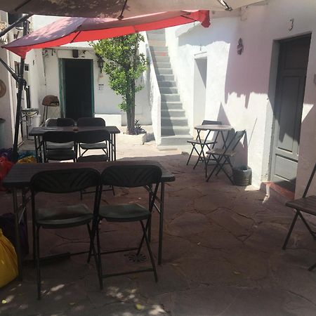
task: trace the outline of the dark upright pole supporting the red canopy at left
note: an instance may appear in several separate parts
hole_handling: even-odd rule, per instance
[[[29,28],[29,22],[25,20],[23,22],[23,36],[27,34],[28,28]],[[20,74],[18,78],[18,95],[17,95],[16,113],[15,113],[15,129],[14,129],[14,141],[13,141],[13,153],[12,153],[13,162],[18,161],[18,136],[19,136],[20,117],[21,117],[22,90],[23,90],[23,85],[25,81],[23,79],[24,65],[25,65],[25,58],[21,57]]]

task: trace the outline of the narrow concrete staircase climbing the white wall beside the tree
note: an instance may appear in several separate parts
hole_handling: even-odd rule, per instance
[[[176,147],[181,150],[187,150],[190,148],[187,140],[192,140],[192,136],[190,136],[185,110],[183,110],[176,81],[174,80],[164,29],[147,32],[147,37],[162,96],[162,143],[159,148],[169,149]]]

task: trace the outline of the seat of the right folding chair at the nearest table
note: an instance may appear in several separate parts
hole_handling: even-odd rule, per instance
[[[100,206],[100,218],[109,222],[133,222],[150,217],[150,211],[139,204],[117,204]]]

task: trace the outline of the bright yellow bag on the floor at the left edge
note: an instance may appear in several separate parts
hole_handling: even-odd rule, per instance
[[[18,258],[15,249],[0,229],[0,287],[4,287],[17,276]]]

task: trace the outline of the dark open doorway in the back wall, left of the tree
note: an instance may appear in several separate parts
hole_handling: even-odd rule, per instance
[[[65,117],[92,117],[92,60],[64,59],[63,72]]]

